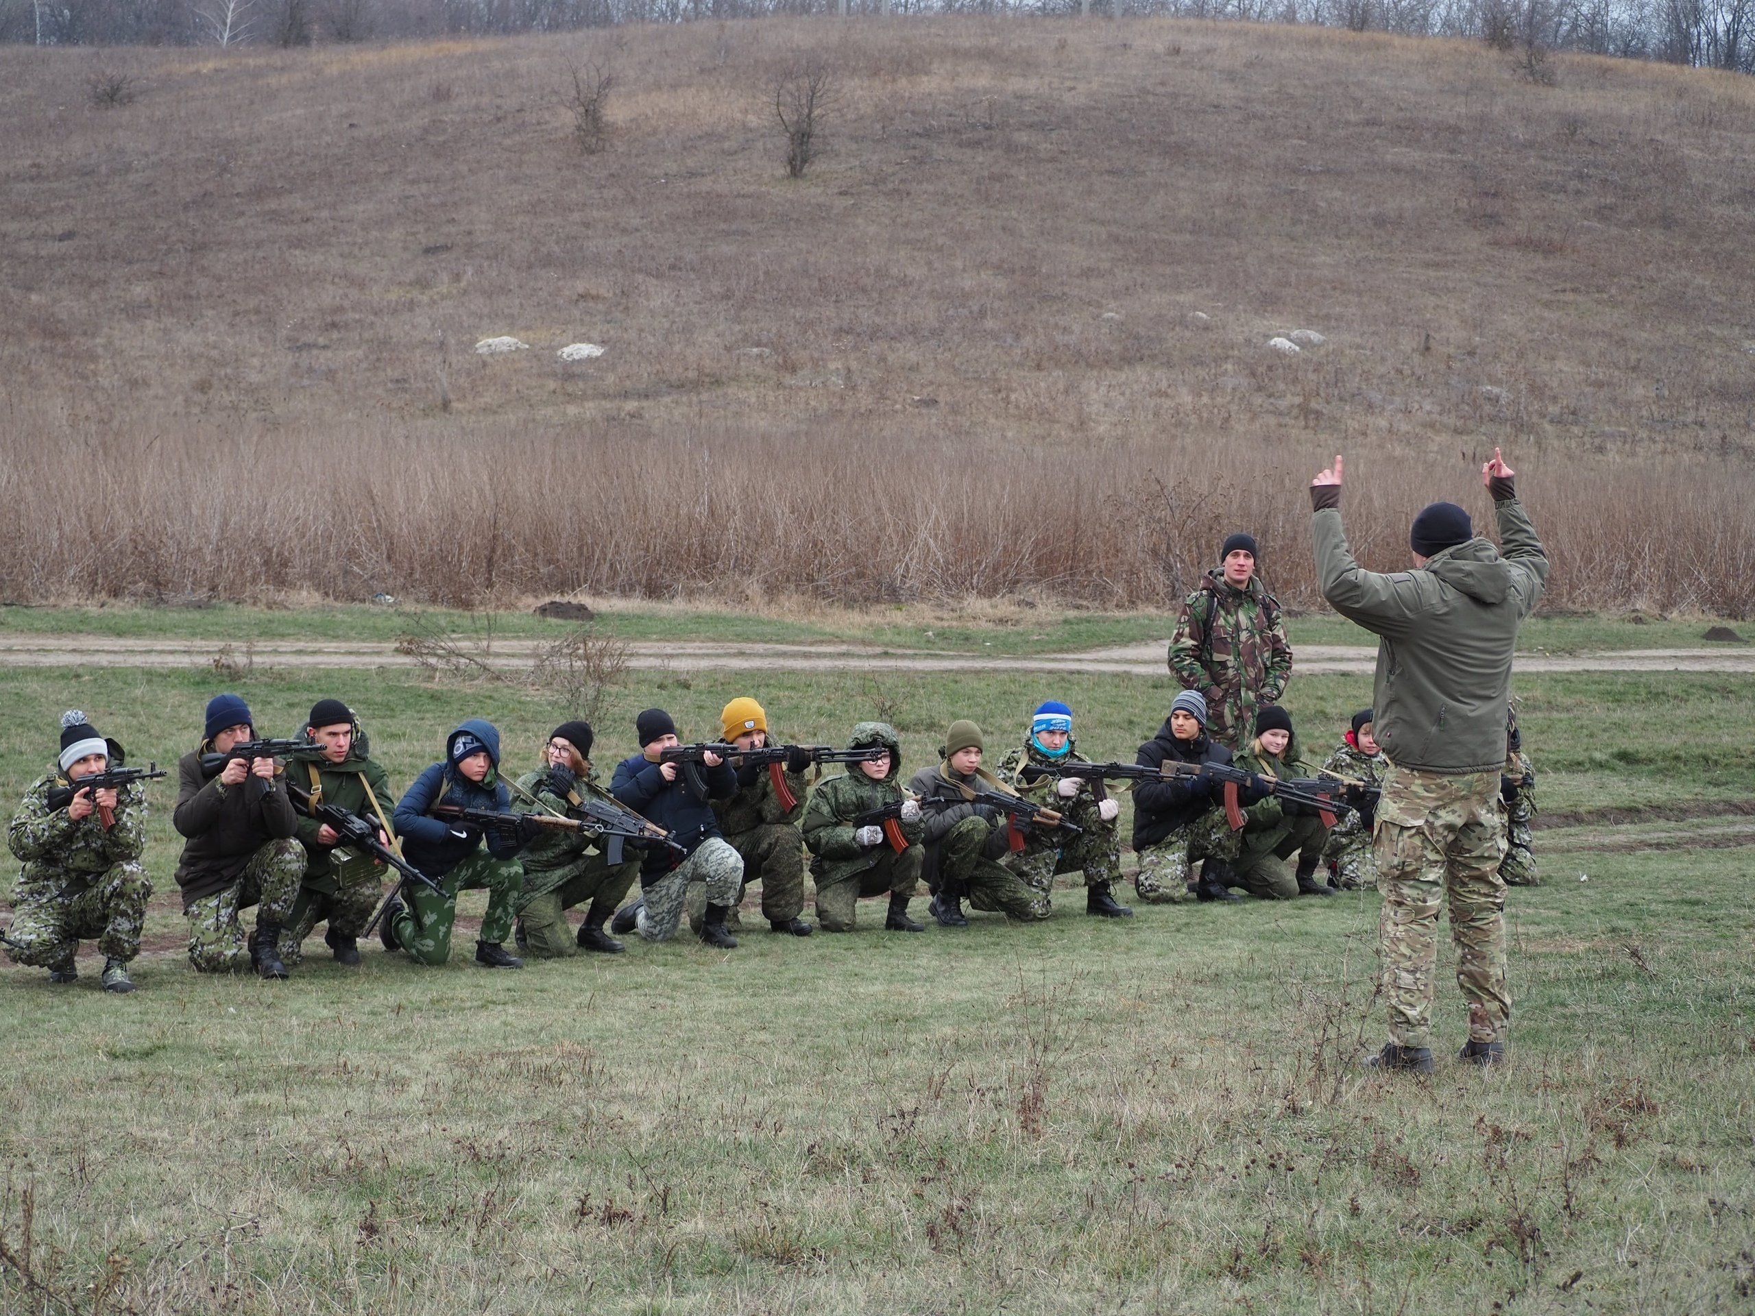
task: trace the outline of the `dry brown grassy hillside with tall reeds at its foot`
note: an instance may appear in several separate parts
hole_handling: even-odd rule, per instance
[[[137,51],[126,114],[0,51],[0,588],[1151,604],[1248,525],[1307,602],[1318,458],[1388,565],[1504,444],[1551,602],[1755,609],[1750,79],[1172,21],[612,40],[588,158],[560,91],[609,39]],[[835,153],[788,181],[811,56]]]

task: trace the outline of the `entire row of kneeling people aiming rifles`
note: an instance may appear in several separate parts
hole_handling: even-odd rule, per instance
[[[1376,883],[1371,814],[1386,763],[1369,709],[1318,776],[1279,707],[1257,714],[1253,740],[1234,758],[1207,735],[1204,698],[1183,691],[1132,765],[1093,765],[1074,749],[1072,711],[1046,702],[992,769],[981,728],[951,723],[941,762],[907,790],[900,740],[881,721],[858,723],[844,749],[777,746],[762,705],[734,698],[718,742],[684,746],[663,709],[639,714],[635,732],[641,751],[605,788],[588,723],[556,726],[542,763],[514,781],[500,772],[495,726],[469,719],[395,798],[340,700],[319,700],[302,737],[263,740],[242,698],[214,697],[200,747],[177,763],[172,814],[184,839],[176,879],[190,963],[286,977],[319,923],[342,963],[358,963],[358,941],[374,930],[388,951],[444,963],[465,890],[488,893],[476,962],[493,969],[523,965],[509,939],[541,958],[616,955],[612,933],[665,941],[684,919],[704,942],[735,948],[753,883],[770,928],[804,937],[806,851],[827,932],[851,932],[865,897],[888,897],[885,928],[921,932],[909,916],[920,883],[942,926],[967,925],[963,902],[1044,919],[1062,874],[1083,876],[1088,914],[1127,918],[1113,895],[1120,804],[1106,779],[1132,783],[1141,900],[1237,900],[1232,888],[1290,898]],[[807,774],[825,762],[846,774],[813,790]],[[95,939],[104,988],[133,990],[128,963],[153,891],[140,865],[147,779],[82,712],[61,718],[61,753],[7,833],[23,863],[4,933],[14,962],[72,983],[81,939]],[[1509,881],[1534,881],[1532,788],[1513,725]],[[627,900],[635,883],[639,897]],[[569,909],[584,911],[577,930]]]

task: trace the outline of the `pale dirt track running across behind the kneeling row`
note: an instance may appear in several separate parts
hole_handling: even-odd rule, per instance
[[[497,667],[528,667],[539,640],[502,640],[488,658]],[[219,653],[214,640],[93,639],[84,635],[0,637],[0,667],[209,667]],[[1162,676],[1165,642],[1130,644],[1086,653],[1035,656],[930,653],[883,649],[863,644],[697,644],[637,642],[630,665],[641,670],[786,669],[804,672],[1113,672]],[[269,667],[418,667],[388,642],[263,640],[247,649],[232,646],[235,662]],[[1306,644],[1297,651],[1302,674],[1371,672],[1376,649]],[[1618,649],[1604,653],[1518,654],[1520,672],[1750,672],[1755,646],[1715,649]]]

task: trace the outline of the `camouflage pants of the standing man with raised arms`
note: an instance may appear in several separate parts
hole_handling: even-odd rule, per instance
[[[1506,991],[1506,884],[1499,862],[1506,825],[1499,772],[1443,776],[1392,767],[1378,805],[1378,939],[1390,1041],[1430,1046],[1437,912],[1450,898],[1457,986],[1469,1002],[1469,1037],[1502,1039]]]

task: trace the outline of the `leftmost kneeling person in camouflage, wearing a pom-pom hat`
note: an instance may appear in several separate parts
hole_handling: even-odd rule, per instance
[[[119,760],[121,746],[100,737],[86,714],[61,714],[61,755],[25,791],[7,828],[7,844],[25,865],[12,893],[7,955],[47,969],[51,983],[79,977],[79,939],[95,937],[104,951],[104,990],[133,991],[128,962],[140,953],[140,923],[153,895],[140,867],[146,793],[139,783],[82,790],[65,809],[49,807],[51,790],[112,762],[119,767]]]

